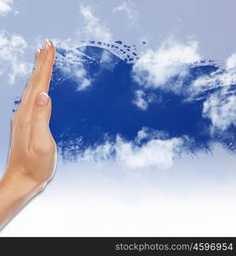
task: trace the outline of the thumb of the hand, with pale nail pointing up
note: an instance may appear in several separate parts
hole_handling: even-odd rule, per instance
[[[49,131],[51,100],[42,92],[35,101],[32,113],[31,147],[37,151],[46,151],[51,146],[52,136]]]

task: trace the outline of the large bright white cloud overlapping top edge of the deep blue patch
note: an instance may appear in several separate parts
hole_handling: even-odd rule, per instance
[[[199,61],[198,44],[179,44],[171,40],[156,51],[147,49],[133,67],[134,79],[144,87],[178,91],[181,84],[166,84],[175,76],[187,75],[188,67]]]

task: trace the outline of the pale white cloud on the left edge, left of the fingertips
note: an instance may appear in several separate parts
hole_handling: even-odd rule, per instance
[[[14,84],[16,76],[32,72],[32,64],[23,60],[26,47],[26,40],[20,35],[0,32],[0,74],[7,73],[10,84]]]

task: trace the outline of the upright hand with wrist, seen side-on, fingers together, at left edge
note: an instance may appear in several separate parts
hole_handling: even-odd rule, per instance
[[[49,131],[49,83],[55,47],[46,41],[37,50],[32,77],[12,119],[9,163],[0,183],[0,227],[53,177],[55,141]]]

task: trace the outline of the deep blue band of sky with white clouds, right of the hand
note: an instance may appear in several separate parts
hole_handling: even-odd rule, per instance
[[[171,150],[198,153],[220,143],[235,152],[236,79],[227,67],[234,55],[220,67],[203,61],[195,43],[164,44],[140,57],[121,41],[58,49],[50,127],[64,158],[118,138],[140,150],[176,140]]]

